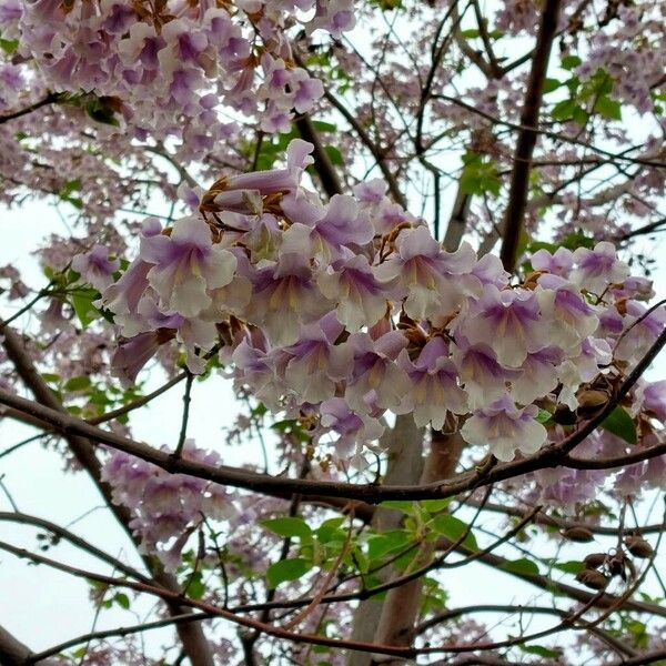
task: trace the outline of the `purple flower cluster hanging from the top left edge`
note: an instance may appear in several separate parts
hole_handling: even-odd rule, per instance
[[[22,57],[34,59],[52,90],[94,91],[98,111],[131,122],[139,139],[158,132],[208,150],[222,138],[220,103],[261,113],[262,130],[274,132],[323,94],[322,83],[295,67],[289,27],[339,38],[354,24],[351,0],[9,4],[3,33],[17,36]],[[8,93],[22,85],[13,65],[0,78]]]

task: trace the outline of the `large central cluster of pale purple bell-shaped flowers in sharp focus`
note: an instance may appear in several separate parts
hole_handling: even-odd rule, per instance
[[[637,361],[666,323],[646,315],[649,285],[609,243],[538,251],[515,284],[468,244],[445,252],[381,181],[323,203],[301,184],[311,150],[294,140],[285,168],[221,179],[200,215],[147,221],[139,256],[103,294],[120,376],[133,381],[174,337],[194,372],[223,344],[239,385],[340,454],[374,441],[391,411],[436,428],[465,416],[465,440],[508,461],[546,442],[539,408],[576,410],[579,391]]]

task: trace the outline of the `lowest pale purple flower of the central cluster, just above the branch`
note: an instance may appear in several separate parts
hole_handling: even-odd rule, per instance
[[[497,460],[513,461],[516,451],[531,455],[546,442],[546,428],[535,421],[537,413],[535,405],[518,410],[505,395],[467,418],[461,434],[470,444],[488,446]]]

